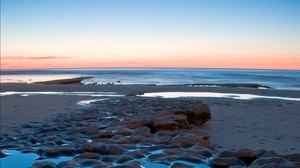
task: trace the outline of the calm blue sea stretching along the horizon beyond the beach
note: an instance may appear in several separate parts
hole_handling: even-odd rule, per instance
[[[92,77],[83,84],[259,84],[300,90],[299,70],[254,69],[39,69],[1,70],[1,82],[37,82]]]

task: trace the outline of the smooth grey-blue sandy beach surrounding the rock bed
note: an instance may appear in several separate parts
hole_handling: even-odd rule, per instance
[[[191,86],[150,85],[37,85],[2,83],[1,92],[115,92],[130,100],[147,92],[217,92],[243,93],[262,96],[300,98],[300,91]],[[28,123],[54,122],[58,117],[68,118],[78,111],[92,108],[80,106],[81,100],[96,99],[91,96],[33,95],[1,96],[1,137],[22,134]],[[112,100],[116,100],[113,98]],[[124,101],[124,98],[121,98]],[[151,98],[151,101],[161,98]],[[178,98],[179,99],[179,98]],[[300,101],[278,99],[236,100],[230,98],[180,98],[202,101],[211,110],[211,119],[197,126],[209,135],[213,152],[251,149],[275,151],[279,155],[300,153]],[[120,101],[120,100],[118,100]],[[147,100],[148,101],[148,100]],[[101,105],[101,104],[100,104]],[[98,106],[100,106],[98,105]],[[101,106],[102,107],[102,106]],[[112,105],[111,107],[118,107]],[[123,106],[122,106],[123,107]],[[124,106],[125,107],[125,106]],[[109,109],[107,109],[109,110]],[[146,110],[147,111],[147,110]],[[147,116],[147,115],[144,115]],[[16,132],[15,130],[18,130]],[[179,130],[180,131],[180,130]],[[26,131],[24,131],[26,133]],[[9,148],[10,142],[1,138],[1,148]],[[7,144],[6,144],[7,143]],[[11,145],[12,148],[13,145]],[[299,159],[299,158],[298,158]],[[154,159],[155,160],[155,159]],[[291,161],[290,161],[291,162]],[[299,165],[299,160],[297,164]],[[212,166],[213,167],[213,166]]]

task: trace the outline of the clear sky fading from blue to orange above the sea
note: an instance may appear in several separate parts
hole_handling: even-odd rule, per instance
[[[300,70],[299,0],[1,0],[1,69]]]

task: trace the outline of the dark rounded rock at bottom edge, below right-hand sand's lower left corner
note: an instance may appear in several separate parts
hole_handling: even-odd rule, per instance
[[[209,162],[209,166],[215,168],[227,168],[230,166],[247,166],[235,157],[216,157]]]

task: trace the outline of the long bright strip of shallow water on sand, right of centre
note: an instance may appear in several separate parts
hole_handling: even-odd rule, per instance
[[[215,93],[215,92],[153,92],[144,93],[141,97],[161,97],[161,98],[180,98],[180,97],[215,97],[215,98],[230,98],[239,100],[253,99],[279,99],[300,101],[300,98],[279,97],[279,96],[261,96],[254,94],[237,94],[237,93]]]

